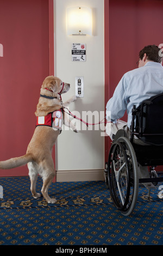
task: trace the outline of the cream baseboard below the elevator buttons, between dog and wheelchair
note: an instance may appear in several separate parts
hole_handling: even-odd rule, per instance
[[[57,182],[104,180],[104,170],[57,170]]]

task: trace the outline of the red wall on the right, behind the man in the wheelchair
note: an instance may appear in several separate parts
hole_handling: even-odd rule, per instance
[[[139,51],[163,43],[163,1],[104,0],[105,4],[105,106],[123,74],[137,68]],[[123,118],[127,120],[127,115]],[[105,161],[110,142],[105,138]]]

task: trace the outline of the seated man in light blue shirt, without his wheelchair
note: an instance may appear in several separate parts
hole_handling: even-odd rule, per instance
[[[133,105],[140,106],[143,100],[163,93],[163,67],[162,54],[156,45],[145,46],[139,53],[138,69],[131,70],[123,75],[118,83],[114,95],[106,105],[106,119],[110,121],[108,113],[111,112],[112,134],[124,125],[130,128]],[[127,110],[128,121],[119,121]],[[107,127],[106,127],[107,132]]]

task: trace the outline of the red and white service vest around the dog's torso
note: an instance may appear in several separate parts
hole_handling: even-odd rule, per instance
[[[63,123],[63,113],[62,109],[51,112],[47,114],[45,117],[37,117],[36,127],[37,126],[49,126],[54,130],[62,130]]]

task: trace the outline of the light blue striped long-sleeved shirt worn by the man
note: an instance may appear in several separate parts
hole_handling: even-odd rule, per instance
[[[163,67],[160,63],[147,62],[145,66],[123,75],[106,105],[106,119],[110,121],[108,111],[111,112],[111,121],[116,121],[127,110],[127,125],[130,127],[133,105],[138,107],[143,100],[160,93],[163,93]]]

